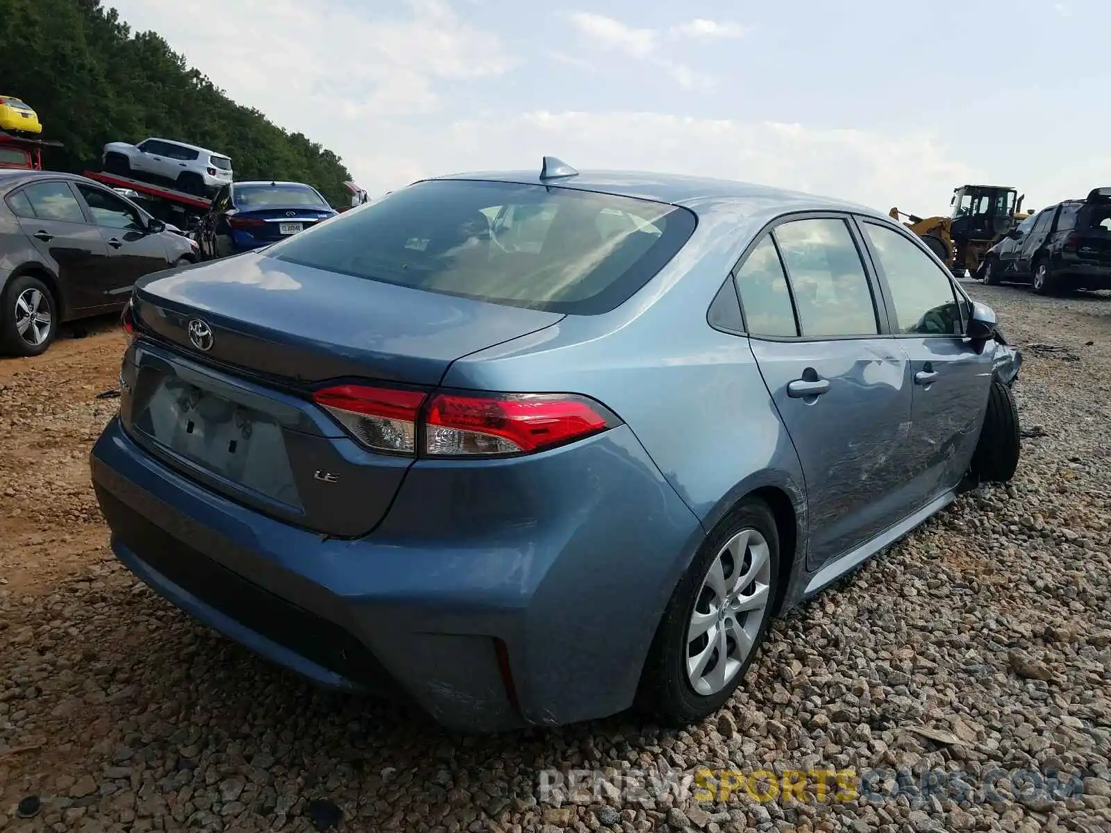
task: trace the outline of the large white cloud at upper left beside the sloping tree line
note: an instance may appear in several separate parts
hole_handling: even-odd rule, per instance
[[[437,82],[474,80],[513,66],[501,40],[442,0],[408,0],[409,14],[298,0],[191,0],[181,9],[110,0],[134,30],[152,29],[238,101],[282,127],[310,132],[336,114],[358,119],[430,112]]]

